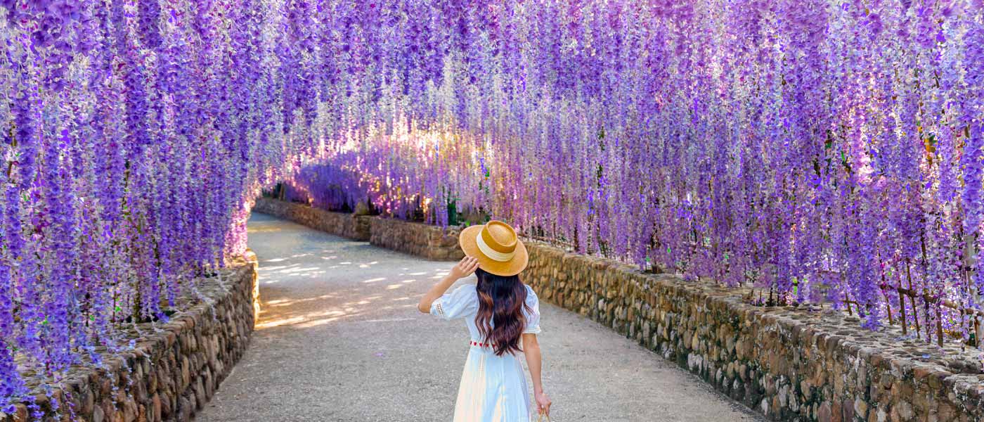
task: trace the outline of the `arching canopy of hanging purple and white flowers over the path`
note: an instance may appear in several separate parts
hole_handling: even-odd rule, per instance
[[[979,0],[0,6],[0,409],[15,357],[57,379],[165,318],[280,179],[437,223],[453,198],[871,328],[899,287],[954,332],[971,314],[928,304],[980,309]]]

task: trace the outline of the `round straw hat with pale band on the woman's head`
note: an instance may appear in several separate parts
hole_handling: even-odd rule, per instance
[[[526,247],[509,224],[492,220],[461,230],[464,255],[478,259],[478,268],[496,275],[516,275],[526,268]]]

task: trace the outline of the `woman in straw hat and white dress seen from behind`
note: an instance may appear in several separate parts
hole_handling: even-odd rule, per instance
[[[528,422],[529,391],[523,352],[533,380],[537,413],[550,414],[540,381],[540,310],[536,293],[520,281],[526,248],[509,224],[489,221],[461,230],[464,259],[420,299],[420,312],[444,320],[463,318],[471,334],[455,403],[455,422]],[[449,287],[472,272],[478,284]],[[522,346],[521,346],[522,337]]]

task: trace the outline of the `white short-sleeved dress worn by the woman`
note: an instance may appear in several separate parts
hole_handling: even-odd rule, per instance
[[[540,305],[536,293],[526,287],[523,333],[540,332]],[[462,318],[468,326],[468,357],[461,373],[455,422],[529,422],[530,401],[523,374],[523,353],[496,356],[492,347],[482,345],[475,326],[478,293],[474,284],[463,284],[431,304],[430,313],[444,320]],[[521,344],[522,346],[522,344]]]

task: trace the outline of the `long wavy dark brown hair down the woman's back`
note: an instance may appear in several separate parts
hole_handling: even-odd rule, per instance
[[[496,275],[478,269],[478,314],[475,326],[482,335],[482,342],[495,344],[496,356],[515,354],[520,348],[520,337],[526,325],[523,308],[526,307],[526,287],[519,275]]]

